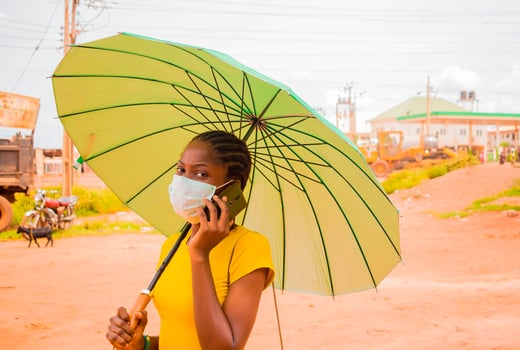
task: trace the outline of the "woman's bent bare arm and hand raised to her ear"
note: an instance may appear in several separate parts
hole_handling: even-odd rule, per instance
[[[215,196],[221,209],[206,202],[210,220],[199,208],[200,224],[192,227],[189,243],[193,307],[197,335],[202,349],[242,349],[253,328],[268,269],[257,269],[235,281],[221,306],[209,262],[210,251],[230,230],[228,208]]]

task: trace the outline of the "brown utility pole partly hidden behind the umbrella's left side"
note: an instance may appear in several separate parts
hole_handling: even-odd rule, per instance
[[[72,3],[72,9],[69,11],[69,2]],[[63,53],[69,51],[70,45],[76,43],[76,12],[79,0],[65,0],[65,25],[63,30]],[[69,18],[70,17],[70,18]],[[63,130],[63,150],[62,150],[62,195],[72,195],[72,157],[73,157],[72,140],[65,130]]]

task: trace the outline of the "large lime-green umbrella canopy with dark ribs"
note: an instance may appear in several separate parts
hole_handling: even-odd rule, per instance
[[[186,144],[222,129],[253,169],[237,222],[271,243],[280,289],[375,287],[400,261],[398,212],[362,154],[276,82],[209,49],[119,34],[72,47],[52,83],[59,118],[98,176],[165,235]]]

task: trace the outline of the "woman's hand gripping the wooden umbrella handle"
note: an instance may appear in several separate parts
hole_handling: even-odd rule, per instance
[[[115,349],[141,350],[144,348],[143,332],[148,323],[146,311],[136,312],[135,318],[137,325],[135,329],[132,329],[130,316],[123,306],[120,306],[117,314],[110,318],[106,337]]]

